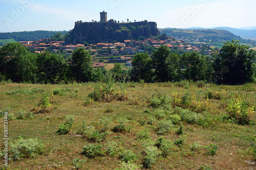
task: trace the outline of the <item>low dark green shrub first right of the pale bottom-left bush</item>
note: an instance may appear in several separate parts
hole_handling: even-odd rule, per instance
[[[102,156],[104,153],[101,151],[101,145],[89,144],[83,147],[82,154],[88,158],[95,158],[96,156]]]

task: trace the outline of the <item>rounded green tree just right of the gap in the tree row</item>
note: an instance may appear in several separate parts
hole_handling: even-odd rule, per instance
[[[132,66],[133,69],[130,72],[132,80],[144,80],[145,82],[152,82],[154,77],[152,59],[147,53],[139,53],[135,55]]]

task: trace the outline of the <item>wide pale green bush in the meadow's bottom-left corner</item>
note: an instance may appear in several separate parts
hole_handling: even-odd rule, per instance
[[[38,139],[23,139],[20,138],[15,144],[11,143],[10,153],[13,160],[20,158],[36,157],[45,150],[45,145]]]

